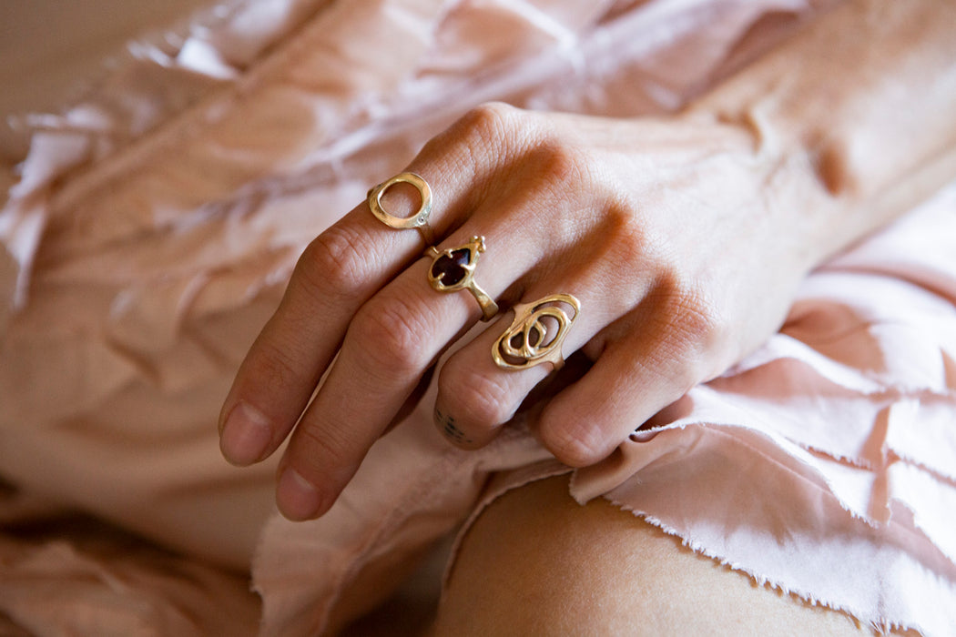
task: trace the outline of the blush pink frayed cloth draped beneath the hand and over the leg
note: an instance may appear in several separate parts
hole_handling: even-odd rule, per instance
[[[33,117],[0,212],[0,476],[17,490],[3,519],[76,508],[251,563],[267,635],[315,634],[336,605],[387,591],[485,502],[569,469],[520,421],[483,450],[450,448],[429,394],[328,516],[273,513],[274,465],[229,467],[215,420],[298,253],[477,103],[665,112],[825,4],[234,0],[134,49],[88,99]],[[574,497],[874,626],[951,633],[954,303],[956,186],[815,272],[779,334],[634,423],[575,473]],[[116,585],[128,564],[109,554],[16,542],[0,537],[0,611],[23,626],[50,590],[47,604],[104,617],[146,598],[155,617],[179,608],[172,582]],[[138,581],[156,584],[150,564]],[[37,568],[100,585],[38,588]],[[204,594],[206,624],[177,634],[252,604],[225,584]]]

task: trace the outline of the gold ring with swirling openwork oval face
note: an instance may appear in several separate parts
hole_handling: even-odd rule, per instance
[[[569,316],[561,305],[572,308],[573,314]],[[553,370],[560,370],[564,366],[561,345],[580,308],[580,301],[571,294],[552,294],[532,303],[515,304],[511,327],[491,348],[495,364],[506,370],[526,370],[551,363]]]

